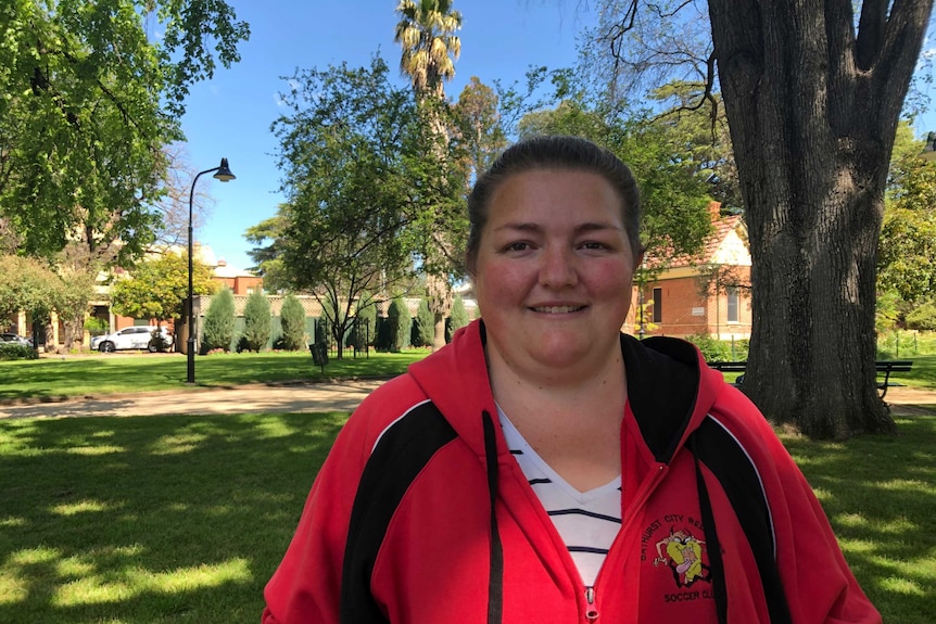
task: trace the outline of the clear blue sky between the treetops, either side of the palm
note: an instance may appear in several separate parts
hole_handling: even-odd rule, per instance
[[[214,205],[195,232],[229,266],[246,268],[251,245],[243,232],[273,216],[283,201],[269,131],[279,115],[277,93],[282,78],[295,69],[340,64],[369,64],[380,51],[396,67],[400,48],[393,42],[395,0],[362,2],[231,0],[239,20],[251,25],[241,62],[219,68],[212,80],[191,89],[182,129],[186,152],[194,170],[216,167],[228,158],[237,179],[227,183],[210,175],[199,178],[199,192]],[[577,34],[594,14],[574,0],[456,0],[463,15],[461,56],[456,77],[445,91],[457,97],[471,76],[485,84],[520,80],[530,65],[551,69],[572,66]],[[400,78],[402,85],[406,84]]]

